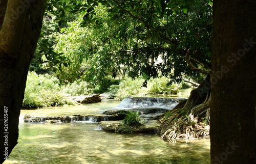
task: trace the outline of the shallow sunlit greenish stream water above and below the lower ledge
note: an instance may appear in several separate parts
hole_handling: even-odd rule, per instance
[[[180,98],[184,98],[182,95]],[[157,134],[120,134],[97,122],[24,122],[31,116],[101,115],[120,101],[22,110],[18,144],[4,163],[210,163],[209,139],[168,143]]]

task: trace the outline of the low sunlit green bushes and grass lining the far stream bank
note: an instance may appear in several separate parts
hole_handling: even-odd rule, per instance
[[[108,98],[122,100],[130,95],[157,95],[177,94],[179,89],[189,87],[183,85],[167,86],[166,78],[155,78],[148,81],[147,88],[141,87],[142,78],[132,79],[125,77],[118,80],[110,80],[105,86],[109,86],[102,93]],[[23,108],[36,108],[59,105],[75,105],[69,96],[89,95],[97,93],[86,81],[74,81],[67,85],[59,85],[59,80],[50,74],[36,74],[29,72],[27,87],[23,101]]]

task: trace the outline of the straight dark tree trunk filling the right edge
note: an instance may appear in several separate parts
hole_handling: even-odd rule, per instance
[[[215,0],[211,163],[256,163],[256,1]]]

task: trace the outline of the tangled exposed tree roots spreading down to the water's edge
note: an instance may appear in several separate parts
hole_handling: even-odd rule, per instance
[[[189,101],[189,99],[187,100]],[[204,102],[186,110],[184,105],[175,107],[173,111],[165,113],[159,122],[162,129],[167,129],[161,139],[173,142],[175,139],[206,138],[209,136],[210,96]]]

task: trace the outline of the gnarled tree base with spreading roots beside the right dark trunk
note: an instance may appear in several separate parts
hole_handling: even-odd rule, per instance
[[[164,113],[160,134],[164,140],[202,138],[209,135],[210,75],[172,111]]]

